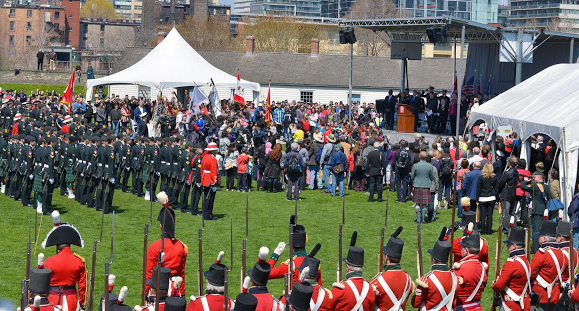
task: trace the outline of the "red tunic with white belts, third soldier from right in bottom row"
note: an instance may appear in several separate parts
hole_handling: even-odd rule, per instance
[[[528,288],[530,273],[531,266],[525,251],[522,249],[512,251],[499,277],[491,286],[494,291],[500,293],[503,306],[513,311],[531,310],[530,289]]]

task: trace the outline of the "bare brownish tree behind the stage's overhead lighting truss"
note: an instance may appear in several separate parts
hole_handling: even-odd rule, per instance
[[[352,6],[349,19],[383,19],[405,17],[396,8],[392,0],[357,0]],[[389,51],[389,38],[385,33],[379,34],[369,29],[356,29],[358,39],[358,54],[371,56],[386,55]]]

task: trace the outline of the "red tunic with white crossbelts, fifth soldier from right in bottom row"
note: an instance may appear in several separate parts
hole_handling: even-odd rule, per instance
[[[444,293],[438,290],[434,284],[434,279],[440,282]],[[421,309],[425,307],[425,310],[430,310],[442,304],[440,311],[451,311],[457,287],[458,278],[447,265],[433,265],[432,271],[416,281],[416,293],[412,297],[412,307]],[[446,300],[443,300],[445,299],[443,296],[447,297]]]

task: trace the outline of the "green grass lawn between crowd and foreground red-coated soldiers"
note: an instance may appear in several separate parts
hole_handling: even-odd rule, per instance
[[[413,278],[417,277],[417,233],[415,217],[411,203],[397,203],[395,193],[389,194],[388,208],[388,237],[398,226],[404,226],[400,235],[405,241],[402,267]],[[257,260],[259,248],[267,246],[273,252],[279,241],[288,239],[288,221],[294,212],[294,203],[285,200],[285,193],[269,194],[252,191],[249,197],[249,238],[248,268]],[[308,233],[307,250],[311,250],[316,243],[322,248],[317,257],[321,260],[323,284],[331,288],[336,281],[336,266],[338,262],[338,227],[342,221],[342,198],[322,194],[318,190],[302,192],[303,200],[299,201],[298,223],[305,225]],[[377,272],[377,261],[380,246],[380,231],[384,226],[386,203],[368,203],[363,192],[346,192],[346,225],[344,226],[344,257],[353,231],[358,231],[357,245],[365,249],[364,276],[372,278]],[[245,193],[226,192],[219,190],[215,199],[214,213],[219,217],[217,221],[205,222],[203,231],[203,269],[206,270],[219,251],[225,251],[224,264],[232,266],[230,273],[229,294],[233,297],[239,293],[242,239],[245,235]],[[101,230],[101,213],[88,209],[74,200],[69,200],[54,194],[54,205],[61,213],[63,222],[69,222],[79,229],[84,239],[85,247],[73,246],[76,252],[86,258],[87,274],[90,273],[93,241],[99,238]],[[128,286],[129,291],[126,303],[134,306],[140,302],[143,254],[143,230],[149,222],[149,202],[136,196],[117,191],[113,206],[115,215],[114,260],[110,272],[117,276],[115,292],[122,286]],[[153,225],[149,231],[149,244],[159,238],[159,225],[155,221],[156,214],[161,206],[153,203]],[[25,275],[26,242],[28,240],[28,223],[32,223],[34,234],[35,212],[30,207],[22,207],[20,202],[14,202],[9,197],[0,194],[0,236],[4,251],[0,252],[0,262],[4,268],[3,282],[0,282],[0,293],[3,298],[19,301],[20,281]],[[104,263],[109,259],[111,240],[111,215],[104,220],[104,233],[98,244],[96,290],[95,296],[102,293],[104,286]],[[458,218],[457,218],[458,220]],[[498,226],[498,213],[495,212],[495,229]],[[233,222],[233,264],[230,260],[230,222]],[[451,211],[442,210],[438,220],[422,226],[424,271],[430,269],[430,257],[426,250],[431,248],[443,226],[451,222]],[[38,218],[38,243],[32,246],[32,266],[36,264],[36,256],[44,252],[48,257],[55,253],[54,248],[42,249],[40,244],[52,227],[50,216]],[[186,265],[187,297],[197,293],[198,268],[198,230],[201,228],[201,217],[182,214],[176,215],[176,236],[189,247],[189,256]],[[461,235],[462,232],[457,232]],[[492,290],[490,283],[494,279],[495,243],[496,235],[485,236],[489,242],[489,283],[483,295],[483,308],[490,307]],[[34,239],[34,237],[33,237]],[[503,251],[503,262],[506,260],[506,251]],[[288,258],[288,249],[280,258],[280,262]],[[345,269],[345,268],[344,268]],[[88,278],[88,277],[87,277]],[[270,292],[281,295],[282,280],[272,280],[269,283]],[[98,296],[97,296],[98,297]],[[410,308],[409,308],[410,309]],[[96,309],[95,309],[96,310]]]

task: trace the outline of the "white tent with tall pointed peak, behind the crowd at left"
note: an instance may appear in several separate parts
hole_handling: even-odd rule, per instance
[[[100,79],[86,82],[86,98],[92,99],[93,87],[109,84],[134,84],[159,90],[177,87],[204,86],[213,79],[216,86],[235,88],[237,77],[207,62],[181,37],[171,32],[149,54],[133,66]],[[244,89],[260,90],[259,83],[241,80]]]

